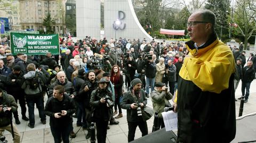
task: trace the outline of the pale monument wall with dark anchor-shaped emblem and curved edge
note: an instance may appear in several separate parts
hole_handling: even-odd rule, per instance
[[[131,0],[105,0],[104,3],[104,30],[107,39],[115,38],[115,32],[117,39],[119,37],[126,39],[153,39],[141,27],[134,12]],[[125,13],[125,18],[121,20],[121,22],[126,25],[123,30],[115,30],[113,28],[114,21],[118,19],[118,11],[123,11]],[[121,18],[122,17],[123,15],[121,14]]]

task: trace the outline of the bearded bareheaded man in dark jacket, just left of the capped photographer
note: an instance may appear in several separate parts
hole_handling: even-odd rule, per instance
[[[86,139],[89,139],[91,137],[91,134],[89,132],[89,126],[91,123],[91,106],[90,106],[90,99],[91,99],[91,93],[94,89],[98,88],[98,84],[95,80],[95,73],[93,70],[89,71],[86,74],[86,80],[84,81],[84,84],[81,86],[79,93],[76,96],[77,100],[80,100],[83,102],[84,111],[83,114],[85,114],[85,121],[87,124],[87,130],[88,133],[86,135]]]

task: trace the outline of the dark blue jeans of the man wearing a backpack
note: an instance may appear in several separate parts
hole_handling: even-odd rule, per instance
[[[35,125],[35,114],[34,114],[35,104],[36,104],[36,107],[38,108],[39,117],[41,118],[41,121],[46,120],[46,115],[44,113],[43,96],[35,96],[35,97],[26,96],[26,101],[28,105],[28,115],[29,115],[30,125]]]

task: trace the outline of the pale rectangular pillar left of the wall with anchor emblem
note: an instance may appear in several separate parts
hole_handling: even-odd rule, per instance
[[[100,0],[76,1],[76,35],[100,39]]]

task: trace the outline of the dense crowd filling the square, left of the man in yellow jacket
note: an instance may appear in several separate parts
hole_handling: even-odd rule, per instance
[[[1,88],[12,95],[16,103],[19,100],[21,119],[29,121],[29,128],[36,125],[36,104],[42,124],[46,124],[46,115],[50,116],[55,142],[61,139],[68,142],[67,134],[76,137],[73,117],[77,117],[76,125],[85,130],[89,130],[91,122],[95,122],[98,141],[105,142],[107,129],[110,128],[108,123],[119,123],[116,119],[123,117],[122,108],[131,110],[121,102],[123,94],[135,88],[134,79],[141,81],[142,87],[134,91],[141,90],[145,95],[144,101],[158,82],[169,85],[170,95],[174,94],[186,48],[179,41],[159,43],[154,39],[140,41],[125,38],[107,41],[106,38],[97,40],[91,37],[73,41],[61,38],[59,55],[12,55],[10,41],[4,38],[0,54]],[[45,95],[48,100],[44,101]],[[137,106],[134,105],[134,108]],[[12,111],[15,123],[20,124],[20,113]],[[128,120],[131,128],[129,141],[132,141],[134,115],[129,118],[132,120]],[[145,130],[142,136],[145,136],[148,131],[146,124],[143,125]],[[15,136],[18,136],[18,130],[15,131]],[[90,136],[88,131],[86,139]]]

